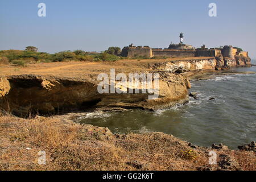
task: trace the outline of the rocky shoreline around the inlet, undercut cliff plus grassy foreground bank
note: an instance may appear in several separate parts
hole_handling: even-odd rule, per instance
[[[132,99],[117,94],[114,97],[104,95],[99,98],[95,91],[95,77],[98,74],[95,68],[93,72],[89,70],[90,74],[84,78],[74,75],[68,77],[48,73],[32,74],[33,72],[26,75],[2,75],[0,156],[11,154],[15,160],[10,163],[8,157],[3,158],[0,170],[255,170],[255,142],[238,146],[238,150],[230,150],[224,144],[200,147],[163,133],[113,134],[106,127],[73,122],[81,115],[81,109],[154,110],[185,103],[191,87],[189,80],[238,74],[232,70],[218,71],[213,58],[176,61],[145,61],[139,65],[138,61],[133,63],[134,68],[139,68],[139,71],[144,69],[160,74],[161,97],[157,101],[147,101],[147,94],[138,94]],[[202,63],[206,65],[203,69],[198,69]],[[119,64],[123,68],[125,63]],[[107,65],[104,71],[112,66]],[[189,71],[188,67],[191,68]],[[126,73],[130,71],[120,68],[118,70]],[[193,93],[191,96],[197,97]],[[81,107],[86,105],[93,107]],[[64,110],[61,106],[68,109]],[[40,117],[37,113],[33,117],[33,109],[46,115],[55,115]],[[10,113],[28,119],[10,116]],[[35,162],[37,152],[42,150],[48,155],[46,166],[39,166]],[[217,154],[214,165],[209,164],[210,151]]]

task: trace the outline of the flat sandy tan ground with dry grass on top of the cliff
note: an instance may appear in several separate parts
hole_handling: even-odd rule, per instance
[[[118,60],[114,62],[56,62],[27,64],[26,67],[0,65],[0,76],[35,74],[44,76],[60,76],[83,78],[86,75],[109,73],[111,68],[117,72],[136,73],[136,71],[151,71],[148,64],[164,63],[177,60],[209,59],[212,57],[178,57],[165,60]]]

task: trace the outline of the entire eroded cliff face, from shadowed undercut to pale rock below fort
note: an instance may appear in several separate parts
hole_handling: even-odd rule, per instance
[[[138,62],[139,63],[139,62]],[[137,64],[137,63],[136,63]],[[188,101],[188,89],[191,87],[188,77],[193,71],[201,69],[216,69],[250,65],[247,57],[236,56],[212,57],[208,59],[162,61],[153,64],[140,64],[137,69],[129,66],[119,66],[119,72],[130,71],[139,73],[159,74],[159,96],[154,100],[148,99],[152,93],[142,93],[143,86],[139,85],[139,93],[104,93],[97,90],[97,74],[92,71],[84,77],[64,77],[49,75],[9,75],[0,77],[0,111],[10,111],[19,116],[29,113],[61,114],[72,110],[120,110],[120,109],[163,109]],[[102,65],[104,67],[105,65]],[[111,67],[115,65],[111,65]],[[101,72],[109,72],[102,69]],[[181,74],[182,73],[182,74]],[[115,81],[118,84],[118,81]],[[117,85],[115,85],[117,86]],[[129,85],[122,90],[136,88]],[[109,85],[110,87],[110,85]]]

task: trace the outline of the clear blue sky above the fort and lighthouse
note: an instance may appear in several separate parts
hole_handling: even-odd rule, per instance
[[[47,16],[38,17],[46,3]],[[208,5],[217,4],[217,17]],[[256,57],[256,1],[0,0],[0,49],[104,51],[110,46],[238,46]]]

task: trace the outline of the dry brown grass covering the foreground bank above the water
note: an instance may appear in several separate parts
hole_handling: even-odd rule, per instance
[[[90,130],[88,130],[88,128]],[[106,135],[67,120],[0,117],[0,170],[196,170],[210,167],[209,148],[188,146],[163,133]],[[26,150],[27,147],[32,150]],[[46,165],[37,164],[46,151]],[[229,154],[245,170],[255,170],[255,153]]]

